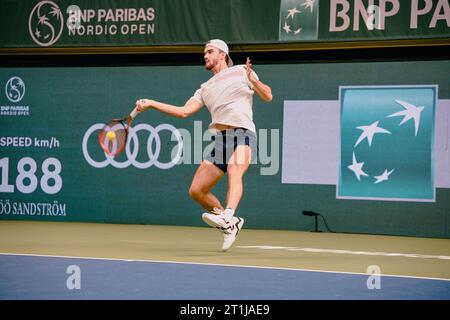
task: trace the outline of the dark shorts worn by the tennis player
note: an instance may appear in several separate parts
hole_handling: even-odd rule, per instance
[[[238,145],[249,146],[251,161],[258,152],[256,134],[245,128],[233,128],[217,132],[211,137],[214,148],[205,160],[215,164],[224,173],[227,172],[228,162]]]

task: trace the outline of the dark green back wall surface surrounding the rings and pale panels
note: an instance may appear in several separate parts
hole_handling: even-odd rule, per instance
[[[267,130],[258,132],[260,143],[273,133],[269,150],[278,145],[279,154],[272,154],[271,164],[252,165],[245,177],[239,214],[248,228],[310,230],[314,221],[301,212],[314,210],[337,232],[450,237],[449,187],[436,188],[431,202],[374,201],[337,199],[333,184],[282,182],[286,101],[338,101],[340,86],[380,85],[437,85],[437,98],[448,100],[450,61],[256,65],[255,71],[274,94],[270,104],[255,97],[255,123]],[[202,66],[1,68],[0,219],[203,225],[202,209],[188,196],[197,164],[96,168],[83,153],[83,139],[88,158],[101,162],[98,131],[86,136],[94,124],[130,112],[137,98],[181,105],[209,77]],[[206,108],[183,120],[150,110],[134,126],[170,124],[198,137],[209,122]],[[448,141],[448,131],[442,134]],[[152,159],[145,152],[148,136],[138,132],[135,161]],[[158,136],[157,160],[167,163],[177,142],[168,130]],[[204,138],[203,149],[209,145]],[[275,159],[276,174],[263,175],[264,168],[276,169]],[[214,191],[224,199],[226,181]]]

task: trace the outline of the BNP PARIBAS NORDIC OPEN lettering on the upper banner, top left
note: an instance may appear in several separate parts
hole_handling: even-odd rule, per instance
[[[79,7],[76,7],[79,8]],[[70,12],[69,36],[155,33],[154,8],[77,9]]]

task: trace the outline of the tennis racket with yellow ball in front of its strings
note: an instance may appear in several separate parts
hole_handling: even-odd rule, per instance
[[[115,157],[125,149],[128,130],[138,113],[139,111],[135,108],[129,116],[123,119],[112,119],[105,124],[98,135],[98,141],[107,155]]]

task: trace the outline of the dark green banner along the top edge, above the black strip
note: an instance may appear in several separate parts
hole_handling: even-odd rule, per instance
[[[0,0],[0,48],[450,38],[449,0]]]

